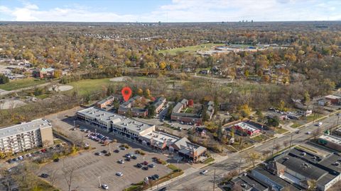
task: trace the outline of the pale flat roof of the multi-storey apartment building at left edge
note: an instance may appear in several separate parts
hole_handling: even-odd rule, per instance
[[[52,127],[48,120],[38,119],[31,122],[21,122],[19,125],[4,127],[0,129],[0,138],[10,137],[23,132],[31,132],[36,129]]]

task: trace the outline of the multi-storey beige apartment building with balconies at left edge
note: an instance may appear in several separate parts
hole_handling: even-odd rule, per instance
[[[38,119],[0,129],[1,152],[18,153],[52,144],[52,126],[48,120]]]

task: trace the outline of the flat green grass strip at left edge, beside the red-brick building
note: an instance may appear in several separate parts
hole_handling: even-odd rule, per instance
[[[45,83],[45,80],[39,80],[39,79],[20,79],[20,80],[14,80],[6,84],[1,84],[0,89],[3,89],[5,91],[13,91],[20,88],[27,88],[30,86],[36,86],[38,84]]]

